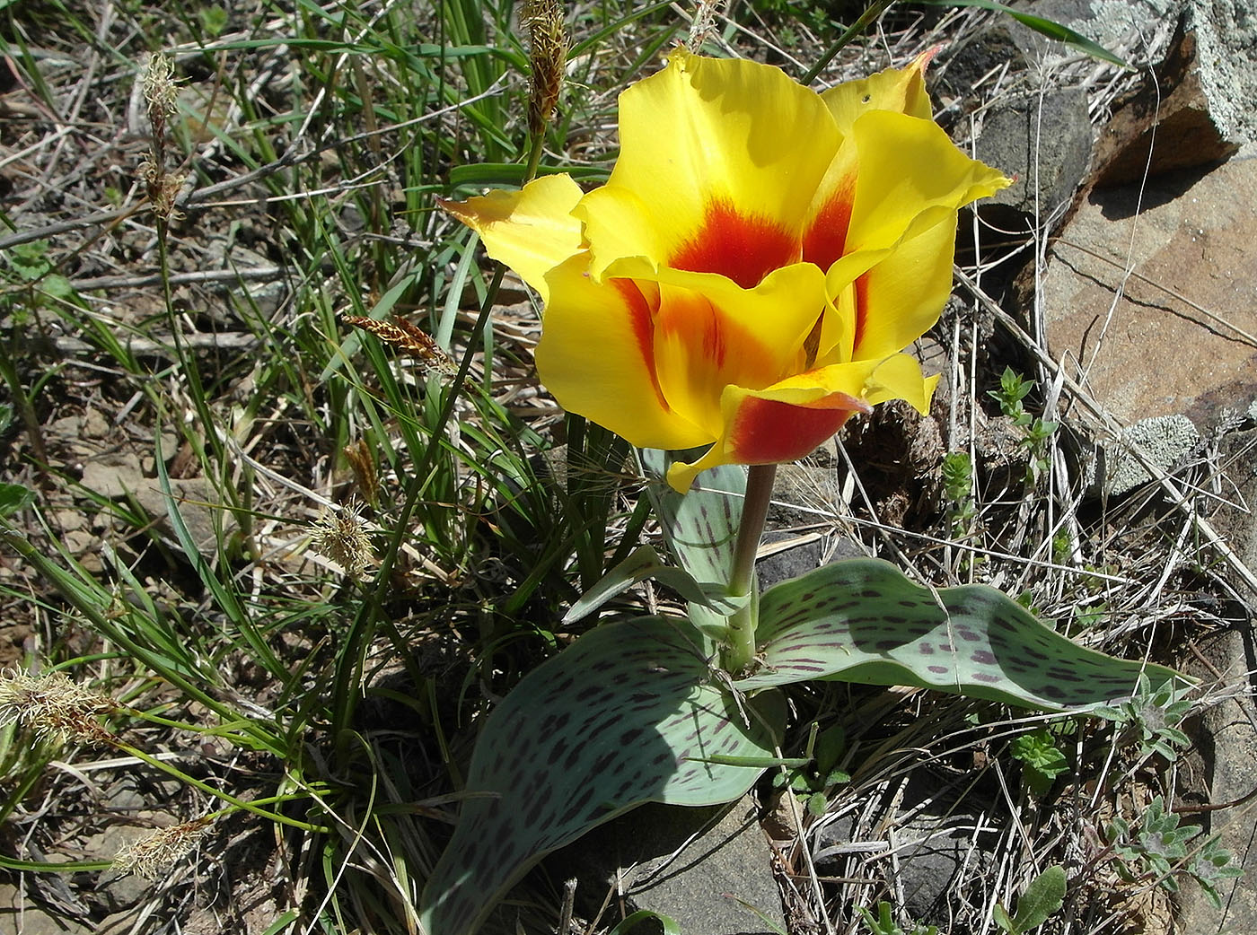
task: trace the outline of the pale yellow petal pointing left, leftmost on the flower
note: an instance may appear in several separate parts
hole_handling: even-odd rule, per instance
[[[582,197],[571,176],[542,176],[519,191],[491,191],[442,209],[480,235],[489,255],[510,266],[548,300],[546,274],[581,249],[572,210]]]

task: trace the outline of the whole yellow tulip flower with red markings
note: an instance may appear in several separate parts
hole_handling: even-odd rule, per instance
[[[544,303],[537,369],[634,445],[720,464],[812,451],[884,400],[929,410],[901,353],[952,289],[957,209],[1009,185],[930,117],[924,70],[816,93],[781,69],[678,49],[620,96],[621,153],[442,202]]]

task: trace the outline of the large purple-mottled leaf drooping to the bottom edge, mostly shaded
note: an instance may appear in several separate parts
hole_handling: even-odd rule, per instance
[[[607,623],[538,666],[476,740],[469,798],[424,891],[422,922],[470,935],[543,855],[645,802],[730,802],[784,724],[777,692],[742,699],[709,667],[710,642],[688,621]],[[743,714],[745,710],[745,716]]]

